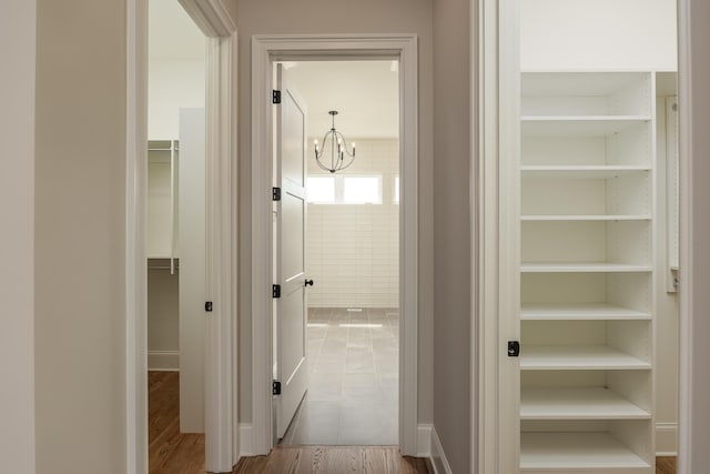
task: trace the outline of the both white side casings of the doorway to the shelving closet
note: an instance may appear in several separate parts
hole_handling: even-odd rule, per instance
[[[679,364],[680,392],[678,411],[678,468],[679,474],[689,474],[693,458],[692,448],[698,441],[692,438],[693,410],[700,407],[693,403],[693,321],[702,321],[704,314],[693,311],[693,152],[692,152],[692,92],[691,72],[691,20],[690,4],[692,0],[678,2],[678,90],[680,122],[680,319],[679,319]],[[471,189],[474,192],[474,212],[471,219],[473,249],[471,258],[471,307],[473,341],[478,342],[478,351],[471,354],[471,381],[475,394],[471,397],[471,411],[475,420],[471,440],[476,440],[471,450],[471,465],[478,466],[480,473],[513,473],[509,440],[510,424],[507,412],[515,412],[510,406],[518,402],[511,400],[511,392],[506,385],[509,364],[505,356],[504,342],[511,334],[505,317],[499,319],[501,307],[501,289],[509,289],[509,280],[503,272],[506,261],[504,249],[498,246],[498,235],[504,223],[499,218],[506,215],[511,203],[503,195],[500,188],[506,185],[506,178],[499,167],[505,165],[500,155],[510,150],[513,133],[518,133],[518,118],[511,117],[519,102],[517,91],[519,71],[517,70],[517,41],[519,0],[470,0],[471,24],[478,28],[478,36],[471,38],[471,110],[475,128],[471,134],[473,160],[478,152],[479,161],[471,163]],[[505,61],[503,60],[505,58]],[[516,61],[510,61],[510,58]],[[513,102],[513,103],[511,103]],[[513,139],[513,140],[510,140]],[[702,205],[701,203],[699,205]],[[700,234],[700,231],[696,231]],[[509,260],[508,260],[509,262]],[[506,286],[508,285],[508,286]],[[507,291],[507,290],[506,290]],[[702,290],[700,290],[702,293]],[[509,295],[508,295],[509,296]],[[701,326],[701,324],[697,324]],[[696,339],[698,336],[696,335]],[[505,366],[508,365],[508,366]],[[514,403],[514,405],[510,405]],[[697,416],[697,415],[696,415]],[[696,454],[696,456],[698,456]],[[517,461],[517,457],[516,457]]]

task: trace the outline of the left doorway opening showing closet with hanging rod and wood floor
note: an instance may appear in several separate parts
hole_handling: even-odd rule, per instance
[[[171,468],[185,451],[204,460],[205,44],[180,3],[150,0],[149,472]]]

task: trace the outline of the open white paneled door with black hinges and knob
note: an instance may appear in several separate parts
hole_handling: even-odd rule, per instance
[[[276,110],[275,375],[281,395],[275,397],[276,436],[282,438],[307,390],[306,362],[306,108],[277,65],[282,102]]]

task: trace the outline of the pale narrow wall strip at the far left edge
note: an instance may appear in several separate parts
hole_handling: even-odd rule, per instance
[[[34,18],[0,2],[0,463],[34,473]]]

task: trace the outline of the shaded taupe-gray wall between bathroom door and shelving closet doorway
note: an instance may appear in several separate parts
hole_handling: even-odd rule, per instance
[[[434,426],[470,471],[469,2],[434,2]]]

